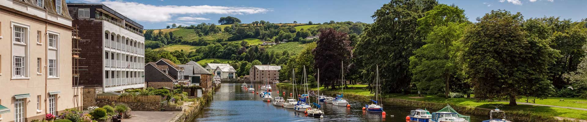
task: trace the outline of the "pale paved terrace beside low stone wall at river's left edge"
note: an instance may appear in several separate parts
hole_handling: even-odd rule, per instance
[[[124,122],[170,121],[181,111],[132,111],[132,117]]]

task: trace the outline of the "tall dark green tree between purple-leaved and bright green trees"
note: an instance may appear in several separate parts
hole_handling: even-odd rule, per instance
[[[409,57],[424,43],[417,19],[438,3],[434,0],[392,0],[377,9],[375,19],[353,50],[354,64],[363,70],[363,81],[375,79],[379,65],[380,82],[384,93],[409,93],[411,72]]]

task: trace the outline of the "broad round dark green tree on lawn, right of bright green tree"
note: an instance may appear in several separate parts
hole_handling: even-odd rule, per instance
[[[491,11],[477,21],[463,37],[475,99],[504,98],[515,106],[521,96],[544,99],[553,93],[547,77],[556,50],[522,30],[521,13]]]

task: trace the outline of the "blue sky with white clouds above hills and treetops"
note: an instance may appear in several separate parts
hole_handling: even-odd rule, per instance
[[[67,0],[73,3],[102,3],[144,29],[162,29],[167,25],[215,23],[224,16],[241,19],[242,23],[323,23],[352,21],[373,23],[373,12],[389,0]],[[439,0],[465,10],[471,22],[475,18],[504,9],[520,12],[525,19],[557,16],[572,21],[587,18],[587,0]]]

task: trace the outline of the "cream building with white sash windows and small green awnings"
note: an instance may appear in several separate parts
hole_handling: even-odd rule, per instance
[[[0,0],[0,121],[82,106],[72,85],[72,18],[65,0]]]

